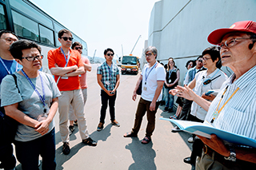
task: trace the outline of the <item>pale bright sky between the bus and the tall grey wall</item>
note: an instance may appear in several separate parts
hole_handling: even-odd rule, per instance
[[[150,13],[158,0],[30,0],[87,42],[88,55],[103,57],[106,48],[118,56],[142,56]]]

